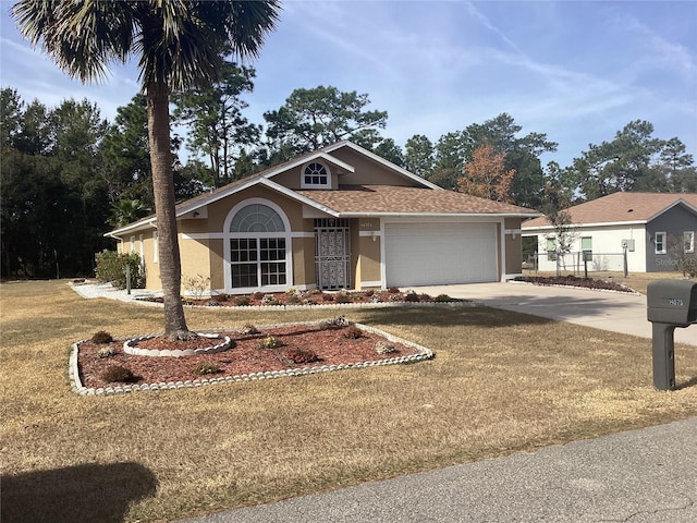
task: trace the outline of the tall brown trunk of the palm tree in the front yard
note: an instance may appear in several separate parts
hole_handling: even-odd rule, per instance
[[[182,263],[179,253],[174,175],[170,151],[168,87],[161,84],[148,85],[147,102],[160,280],[164,299],[164,333],[173,339],[188,339],[191,332],[186,327],[181,299]]]

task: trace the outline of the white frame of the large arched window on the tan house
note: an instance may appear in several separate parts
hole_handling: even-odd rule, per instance
[[[260,204],[266,205],[273,209],[283,221],[283,227],[285,229],[284,232],[230,232],[230,226],[232,223],[235,215],[244,207],[248,205]],[[285,283],[278,285],[261,285],[259,281],[259,287],[232,287],[232,253],[230,248],[230,241],[233,239],[248,239],[254,238],[257,239],[257,248],[259,248],[259,240],[264,238],[283,238],[285,240]],[[224,287],[225,292],[234,292],[235,294],[248,294],[256,291],[261,292],[281,292],[285,289],[293,287],[293,235],[291,232],[291,222],[285,215],[285,211],[273,202],[266,198],[248,198],[236,204],[228,214],[225,221],[223,222],[222,230],[222,240],[223,240],[223,278],[224,278]],[[257,260],[260,263],[260,260]]]

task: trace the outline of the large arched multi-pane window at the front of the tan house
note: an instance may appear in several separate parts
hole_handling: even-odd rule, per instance
[[[279,212],[265,204],[246,205],[234,212],[228,230],[230,287],[282,290],[288,282],[290,236]]]

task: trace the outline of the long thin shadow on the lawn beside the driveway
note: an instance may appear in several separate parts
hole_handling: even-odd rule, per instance
[[[498,328],[515,325],[549,325],[554,320],[492,307],[405,307],[365,311],[362,323]]]

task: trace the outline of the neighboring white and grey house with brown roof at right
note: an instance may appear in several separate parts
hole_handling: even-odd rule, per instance
[[[697,194],[613,193],[566,209],[573,246],[560,259],[568,270],[673,270],[676,258],[695,255]],[[537,239],[539,270],[555,270],[557,236],[546,217],[523,223],[523,235]]]

